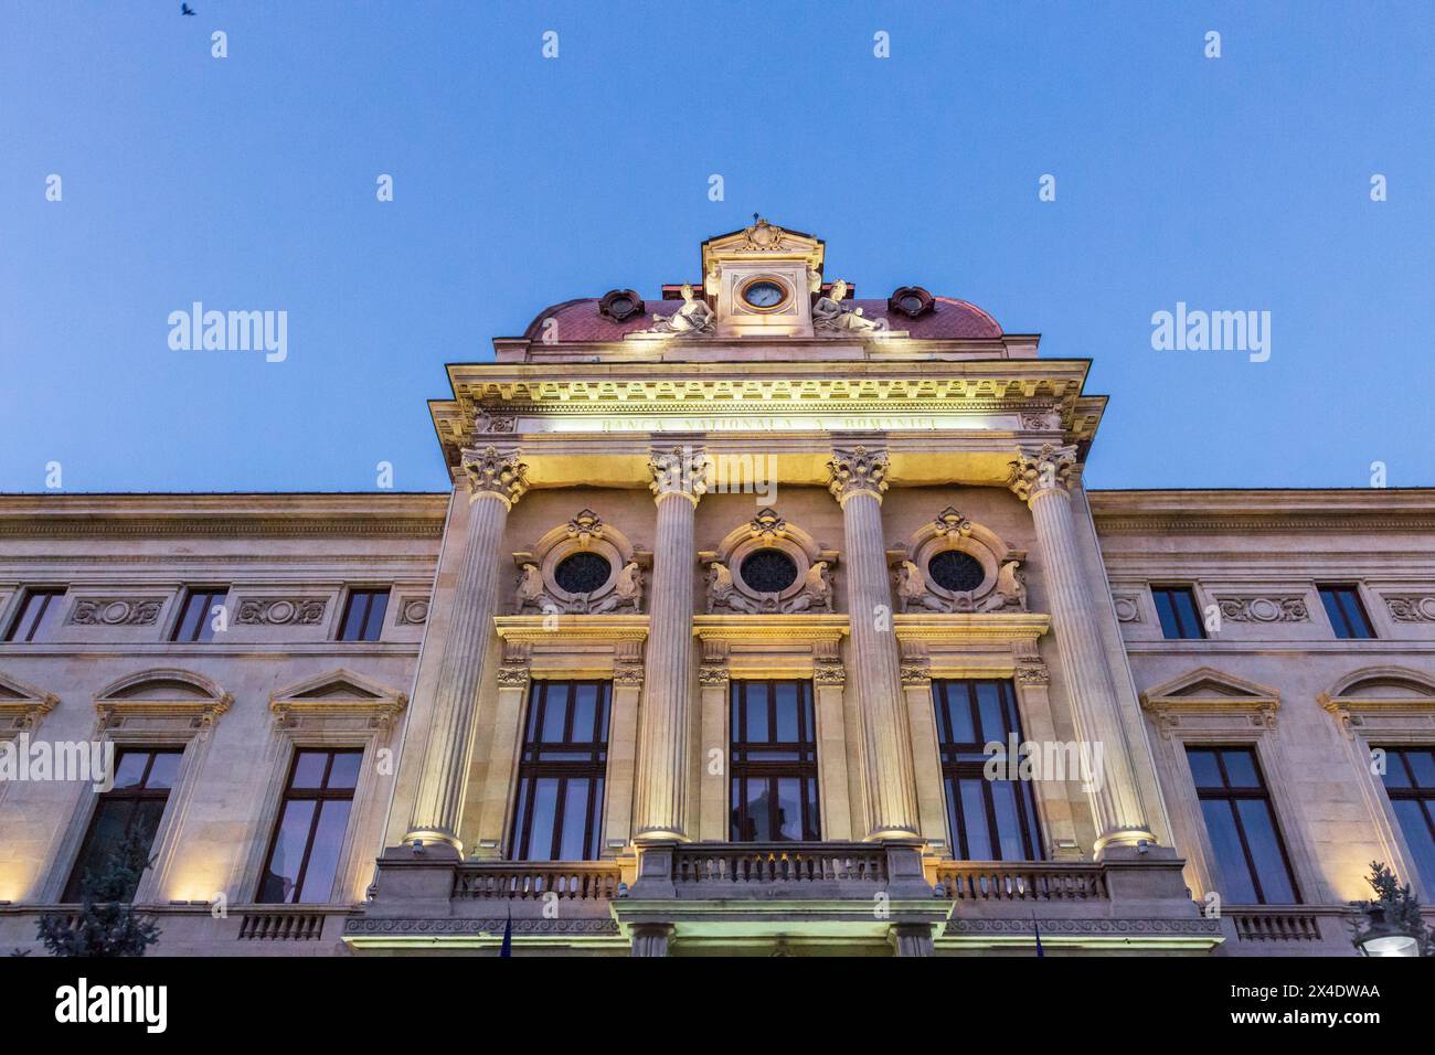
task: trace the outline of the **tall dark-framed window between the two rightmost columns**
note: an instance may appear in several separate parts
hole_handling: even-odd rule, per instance
[[[937,741],[947,795],[947,834],[963,861],[1039,861],[1042,838],[1036,824],[1032,782],[987,779],[987,744],[1000,744],[996,759],[1006,765],[1012,738],[1022,742],[1022,722],[1010,682],[934,680]]]

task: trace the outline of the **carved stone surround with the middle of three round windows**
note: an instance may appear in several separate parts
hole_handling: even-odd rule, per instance
[[[699,554],[707,566],[707,611],[795,614],[832,610],[837,554],[784,520],[759,510],[729,533],[716,551]]]

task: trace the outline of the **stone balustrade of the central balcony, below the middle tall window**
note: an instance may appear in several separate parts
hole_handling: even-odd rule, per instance
[[[753,886],[887,883],[887,854],[867,843],[692,843],[673,851],[673,884]]]

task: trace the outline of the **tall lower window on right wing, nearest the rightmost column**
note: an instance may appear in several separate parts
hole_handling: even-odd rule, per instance
[[[1300,901],[1270,795],[1250,748],[1187,748],[1205,831],[1231,904]]]

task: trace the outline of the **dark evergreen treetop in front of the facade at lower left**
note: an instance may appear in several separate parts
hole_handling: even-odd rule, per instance
[[[132,831],[98,876],[85,873],[76,914],[40,917],[37,937],[52,956],[144,956],[159,927],[129,904],[139,877],[152,864],[148,840]]]

